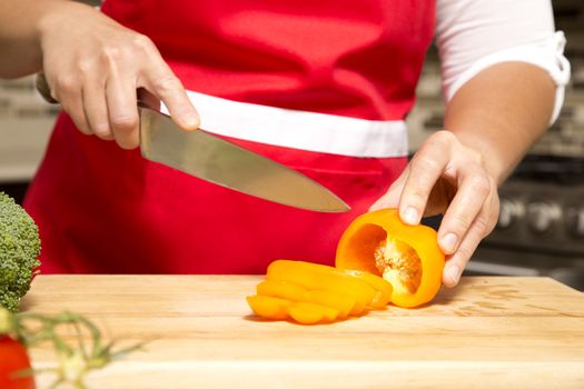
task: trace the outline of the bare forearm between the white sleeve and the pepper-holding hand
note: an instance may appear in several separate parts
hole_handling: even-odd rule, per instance
[[[466,82],[446,107],[444,127],[478,151],[502,182],[546,130],[555,84],[523,62],[493,66]]]

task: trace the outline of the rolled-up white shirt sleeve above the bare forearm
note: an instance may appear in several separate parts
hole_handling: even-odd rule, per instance
[[[472,77],[499,62],[528,62],[556,83],[552,122],[560,114],[570,62],[555,32],[551,0],[437,0],[436,43],[446,101]]]

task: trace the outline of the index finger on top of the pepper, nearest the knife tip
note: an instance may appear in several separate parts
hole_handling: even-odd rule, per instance
[[[428,138],[409,162],[409,174],[399,198],[399,217],[408,225],[419,223],[432,189],[448,164],[449,138],[454,136],[439,132]]]

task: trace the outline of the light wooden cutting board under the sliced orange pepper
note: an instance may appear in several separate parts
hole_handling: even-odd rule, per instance
[[[256,319],[245,297],[260,279],[39,276],[23,309],[149,341],[91,388],[584,388],[584,293],[551,279],[463,278],[425,308],[327,326]],[[32,359],[46,367],[50,349]]]

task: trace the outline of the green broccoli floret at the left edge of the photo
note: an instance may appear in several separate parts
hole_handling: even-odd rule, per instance
[[[8,194],[0,192],[0,306],[16,312],[40,265],[39,229]]]

